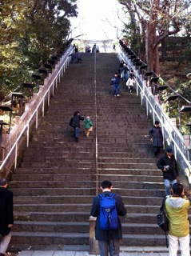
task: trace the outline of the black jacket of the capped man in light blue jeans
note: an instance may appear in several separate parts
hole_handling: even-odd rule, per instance
[[[169,170],[163,171],[165,168],[164,166],[169,166]],[[171,156],[171,158],[169,158],[165,153],[161,158],[159,158],[157,162],[157,167],[158,169],[162,170],[164,179],[169,179],[169,181],[172,181],[178,176],[177,161],[173,155]]]

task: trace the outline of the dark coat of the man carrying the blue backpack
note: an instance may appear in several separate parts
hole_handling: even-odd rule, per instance
[[[109,191],[105,191],[103,194],[111,194]],[[97,217],[96,225],[95,225],[95,238],[97,240],[109,240],[113,239],[121,239],[122,238],[122,230],[121,230],[121,221],[118,218],[118,228],[117,230],[101,230],[99,225],[99,213],[100,213],[100,196],[97,195],[94,197],[94,202],[91,207],[90,215]],[[116,194],[114,196],[117,207],[117,215],[124,216],[126,214],[126,209],[124,203],[122,202],[122,198],[120,195]],[[109,234],[110,232],[110,234]]]

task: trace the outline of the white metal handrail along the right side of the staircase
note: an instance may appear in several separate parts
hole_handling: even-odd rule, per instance
[[[119,48],[117,52],[117,58],[119,61],[124,60],[129,66],[129,69],[134,70],[136,73],[136,92],[137,96],[141,99],[141,105],[145,106],[146,114],[153,118],[153,122],[156,119],[160,121],[165,142],[173,147],[175,158],[179,159],[180,166],[185,170],[185,175],[188,176],[189,182],[191,183],[191,164],[188,159],[189,152],[185,146],[182,134],[177,127],[173,126],[169,116],[162,111],[161,105],[159,102],[156,102],[154,95],[142,79],[142,75],[139,74],[138,70],[133,66],[133,61],[128,58],[125,51],[121,50],[121,48]]]

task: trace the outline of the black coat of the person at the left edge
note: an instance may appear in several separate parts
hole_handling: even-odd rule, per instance
[[[0,234],[9,234],[8,225],[13,223],[13,193],[5,187],[0,187]]]

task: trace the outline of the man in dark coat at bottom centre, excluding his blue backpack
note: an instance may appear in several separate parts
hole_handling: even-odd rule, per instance
[[[109,181],[104,181],[101,183],[101,190],[103,194],[111,194],[112,183]],[[100,196],[97,195],[94,197],[94,202],[91,207],[90,215],[97,217],[95,225],[95,238],[98,240],[100,256],[105,256],[110,254],[110,256],[119,255],[119,241],[122,239],[121,231],[121,221],[118,218],[118,227],[117,230],[101,230],[99,225],[99,214],[100,214]],[[126,209],[122,198],[120,195],[115,194],[114,199],[116,200],[117,215],[125,216]]]

